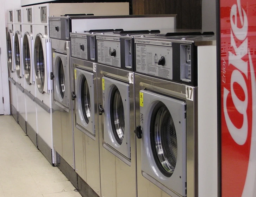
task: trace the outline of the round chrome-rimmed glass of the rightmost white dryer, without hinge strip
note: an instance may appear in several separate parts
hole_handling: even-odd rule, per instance
[[[35,39],[34,48],[34,61],[35,61],[35,75],[37,88],[40,93],[44,92],[44,79],[45,79],[45,65],[44,65],[44,52],[42,42],[39,36]]]

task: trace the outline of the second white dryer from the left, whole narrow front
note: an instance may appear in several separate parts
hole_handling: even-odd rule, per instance
[[[17,74],[17,101],[18,101],[18,123],[26,133],[26,102],[25,102],[25,77],[23,67],[23,25],[22,25],[22,8],[13,10],[13,29],[14,29],[14,64]]]

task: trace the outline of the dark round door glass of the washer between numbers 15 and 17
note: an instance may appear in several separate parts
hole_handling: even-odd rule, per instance
[[[116,86],[113,88],[111,93],[110,114],[115,140],[119,145],[121,145],[124,139],[125,128],[124,105],[121,94]]]

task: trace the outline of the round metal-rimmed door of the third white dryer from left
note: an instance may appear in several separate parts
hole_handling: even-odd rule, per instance
[[[32,56],[31,56],[31,36],[26,32],[23,37],[23,65],[27,84],[31,84],[32,77]]]

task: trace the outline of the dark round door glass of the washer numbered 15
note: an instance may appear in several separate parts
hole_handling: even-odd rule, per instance
[[[82,104],[82,111],[83,117],[85,118],[86,123],[89,123],[90,120],[90,92],[89,92],[89,85],[85,78],[82,76],[81,80],[81,104]]]

